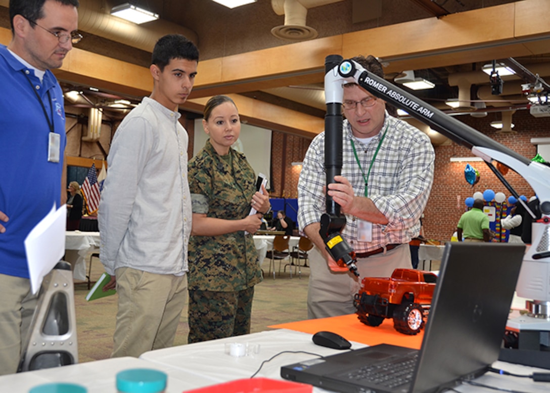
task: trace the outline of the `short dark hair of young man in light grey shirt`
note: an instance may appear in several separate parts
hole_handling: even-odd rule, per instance
[[[172,59],[199,61],[199,50],[195,44],[181,34],[168,34],[158,39],[153,48],[151,64],[161,71]]]

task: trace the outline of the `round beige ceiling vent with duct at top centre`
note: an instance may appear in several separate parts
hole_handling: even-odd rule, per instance
[[[306,41],[317,37],[317,30],[306,25],[307,9],[337,3],[342,0],[271,0],[277,15],[284,15],[284,25],[271,29],[277,38]]]

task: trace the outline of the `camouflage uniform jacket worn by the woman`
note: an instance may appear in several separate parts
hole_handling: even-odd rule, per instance
[[[238,220],[250,212],[255,174],[244,154],[229,149],[232,167],[210,144],[189,161],[193,212]],[[259,283],[258,254],[252,234],[244,231],[189,239],[189,290],[236,292]]]

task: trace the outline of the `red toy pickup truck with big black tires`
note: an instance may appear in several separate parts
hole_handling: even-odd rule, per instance
[[[415,335],[424,327],[436,281],[432,272],[413,269],[395,269],[391,277],[365,277],[355,294],[358,318],[368,326],[393,318],[395,330]]]

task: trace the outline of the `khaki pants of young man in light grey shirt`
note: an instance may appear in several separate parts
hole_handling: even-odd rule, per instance
[[[187,302],[187,275],[116,270],[118,312],[111,357],[170,347]]]

